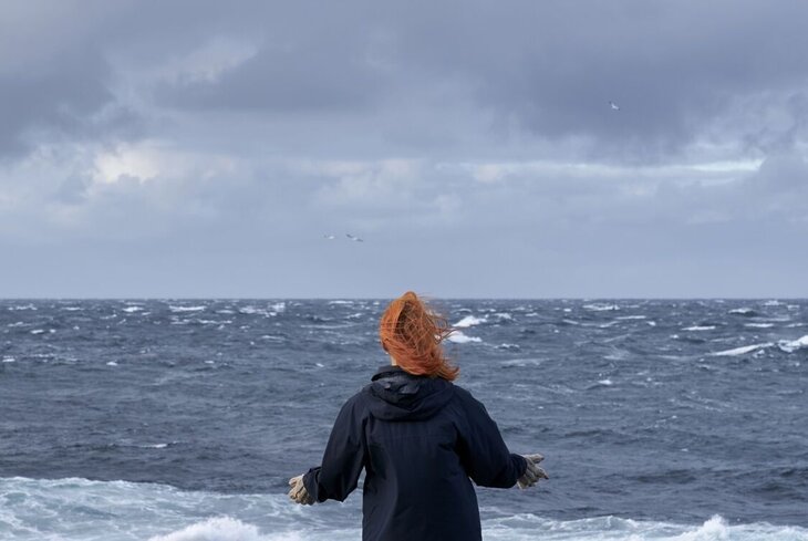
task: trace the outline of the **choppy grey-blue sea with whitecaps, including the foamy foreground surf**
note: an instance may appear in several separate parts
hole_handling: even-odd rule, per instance
[[[361,539],[361,482],[287,482],[389,363],[385,303],[1,300],[0,540]],[[808,301],[434,305],[550,476],[478,488],[485,540],[808,540]]]

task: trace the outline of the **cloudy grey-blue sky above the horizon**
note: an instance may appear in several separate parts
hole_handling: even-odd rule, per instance
[[[2,0],[0,298],[808,296],[806,20]]]

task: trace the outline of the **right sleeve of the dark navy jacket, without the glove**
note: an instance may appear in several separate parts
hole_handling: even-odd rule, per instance
[[[466,474],[480,487],[510,488],[525,475],[524,457],[511,454],[485,406],[467,391],[457,389],[465,423],[459,423],[458,455]]]

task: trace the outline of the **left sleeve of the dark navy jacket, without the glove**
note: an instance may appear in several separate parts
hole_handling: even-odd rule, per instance
[[[342,406],[331,429],[322,465],[303,476],[305,490],[315,501],[343,501],[356,488],[366,456],[358,402],[354,397]]]

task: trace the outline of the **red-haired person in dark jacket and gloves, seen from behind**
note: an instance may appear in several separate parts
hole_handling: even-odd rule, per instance
[[[342,501],[364,468],[363,541],[474,541],[472,481],[527,488],[547,479],[541,455],[509,452],[483,404],[452,383],[459,371],[441,345],[450,333],[411,291],[390,303],[379,335],[391,365],[342,407],[322,465],[290,479],[292,500]]]

